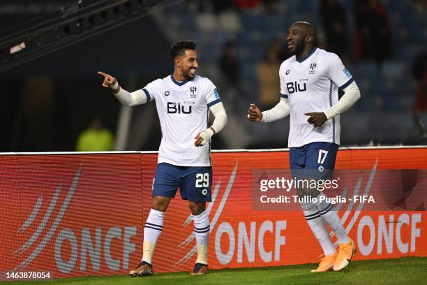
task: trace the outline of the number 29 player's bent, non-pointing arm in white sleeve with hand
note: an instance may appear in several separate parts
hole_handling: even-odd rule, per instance
[[[225,112],[223,103],[216,103],[209,107],[209,110],[211,110],[215,119],[213,120],[212,126],[209,126],[208,129],[201,131],[200,133],[197,133],[194,142],[196,147],[205,145],[213,135],[219,133],[227,124],[227,112]]]

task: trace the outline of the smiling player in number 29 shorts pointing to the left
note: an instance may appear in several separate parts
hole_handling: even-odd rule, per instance
[[[179,187],[193,214],[197,260],[192,275],[208,272],[210,224],[206,202],[211,201],[211,137],[227,124],[227,114],[218,91],[208,78],[195,75],[198,67],[193,41],[179,41],[170,50],[174,73],[154,80],[135,92],[122,89],[117,80],[103,72],[103,87],[111,88],[123,105],[156,101],[162,131],[158,164],[153,180],[151,210],[144,226],[142,260],[133,277],[153,274],[152,257],[163,230],[163,220],[170,199]],[[209,110],[215,117],[208,126]]]

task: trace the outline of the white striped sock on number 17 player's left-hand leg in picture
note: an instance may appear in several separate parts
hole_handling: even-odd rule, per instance
[[[329,238],[329,231],[322,216],[317,212],[317,208],[313,203],[301,203],[301,207],[306,216],[308,226],[320,243],[324,255],[331,255],[335,253],[334,244]]]

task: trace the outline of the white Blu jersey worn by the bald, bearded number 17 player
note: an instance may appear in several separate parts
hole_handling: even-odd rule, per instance
[[[324,112],[338,102],[338,88],[354,80],[338,55],[315,47],[307,57],[293,56],[283,61],[279,70],[280,96],[289,98],[290,131],[288,147],[310,142],[340,144],[340,116],[316,128],[307,122],[306,112]]]

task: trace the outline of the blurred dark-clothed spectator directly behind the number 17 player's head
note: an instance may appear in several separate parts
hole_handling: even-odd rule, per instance
[[[322,0],[320,16],[327,50],[343,58],[347,56],[347,14],[343,5],[337,0]]]

